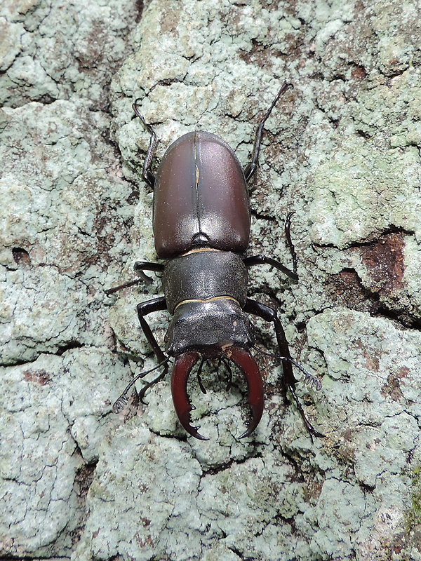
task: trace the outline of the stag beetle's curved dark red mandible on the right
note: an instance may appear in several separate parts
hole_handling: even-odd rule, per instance
[[[223,352],[246,377],[248,386],[247,403],[251,406],[252,418],[247,431],[240,436],[240,438],[245,438],[253,433],[262,418],[264,401],[262,376],[256,361],[246,349],[241,349],[239,346],[227,346]]]

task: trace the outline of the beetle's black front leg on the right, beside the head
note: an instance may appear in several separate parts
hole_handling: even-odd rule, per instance
[[[274,311],[274,309],[272,308],[269,308],[269,306],[265,306],[265,304],[260,304],[260,302],[255,302],[255,300],[252,300],[250,298],[246,300],[246,306],[244,306],[244,311],[246,311],[247,313],[253,313],[254,316],[259,316],[260,318],[266,321],[271,321],[274,324],[276,341],[278,342],[279,351],[281,351],[281,355],[290,358],[288,341],[286,339],[285,332],[283,331],[281,321],[276,315],[276,311]],[[304,421],[305,426],[307,427],[307,431],[309,431],[311,435],[323,438],[324,435],[319,433],[319,431],[316,431],[314,426],[312,426],[312,424],[305,416],[305,412],[302,408],[300,400],[298,399],[298,396],[295,393],[295,384],[297,380],[294,377],[292,364],[288,360],[282,360],[282,366],[283,366],[283,383],[285,384],[286,388],[290,389],[290,392],[295,400],[295,403],[297,404],[298,411],[300,412],[302,420]]]

